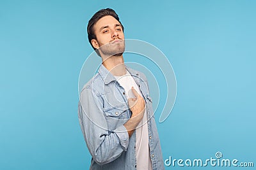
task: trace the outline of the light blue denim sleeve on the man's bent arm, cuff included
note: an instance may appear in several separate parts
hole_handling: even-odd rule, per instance
[[[97,164],[112,162],[127,150],[129,135],[126,128],[121,125],[114,131],[108,130],[103,112],[103,100],[97,92],[88,88],[83,89],[78,116],[84,140]]]

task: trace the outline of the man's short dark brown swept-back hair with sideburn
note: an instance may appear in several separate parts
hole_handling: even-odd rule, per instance
[[[95,30],[94,30],[94,25],[96,24],[96,22],[98,20],[100,20],[100,18],[105,17],[105,16],[112,16],[114,17],[116,20],[118,20],[118,22],[120,22],[118,15],[116,14],[116,12],[114,10],[112,10],[111,8],[106,8],[106,9],[102,9],[97,11],[97,13],[95,13],[92,18],[90,18],[88,25],[87,25],[87,33],[88,33],[88,40],[90,42],[90,44],[92,45],[92,39],[97,39],[96,35],[95,35]],[[121,22],[120,22],[121,24]],[[122,29],[124,31],[124,26],[121,24]],[[99,52],[96,48],[93,47],[92,48],[94,50],[96,50],[97,54],[99,55]]]

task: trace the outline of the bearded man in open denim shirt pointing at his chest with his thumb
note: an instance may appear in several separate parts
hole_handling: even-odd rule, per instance
[[[124,26],[112,9],[88,22],[88,39],[102,58],[84,85],[79,122],[92,155],[90,169],[164,169],[152,99],[143,73],[124,64]]]

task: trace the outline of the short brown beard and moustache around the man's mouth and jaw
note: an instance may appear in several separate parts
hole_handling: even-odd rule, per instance
[[[125,41],[124,39],[118,39],[118,42],[108,43],[106,45],[100,45],[98,49],[102,55],[106,57],[111,56],[121,56],[125,50]]]

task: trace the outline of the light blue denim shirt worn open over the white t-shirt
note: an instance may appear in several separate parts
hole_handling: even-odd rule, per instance
[[[125,67],[147,104],[152,169],[164,169],[147,79],[143,73]],[[125,90],[103,65],[81,91],[78,117],[84,140],[92,155],[90,169],[136,169],[136,131],[129,138],[124,127],[131,117]]]

